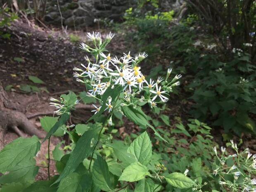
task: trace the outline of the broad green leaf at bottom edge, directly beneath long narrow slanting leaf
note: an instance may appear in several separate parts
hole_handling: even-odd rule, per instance
[[[70,173],[59,183],[57,192],[88,192],[92,185],[89,174]]]

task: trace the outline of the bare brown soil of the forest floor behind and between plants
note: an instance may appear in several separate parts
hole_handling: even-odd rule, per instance
[[[26,103],[25,115],[31,116],[36,112],[47,113],[52,111],[53,108],[49,106],[50,97],[59,97],[61,92],[72,90],[74,92],[83,91],[83,86],[76,82],[73,78],[73,67],[79,66],[85,62],[83,58],[85,52],[79,48],[79,43],[86,39],[86,32],[93,30],[102,32],[102,36],[106,36],[109,31],[106,29],[89,28],[88,31],[66,31],[64,33],[59,28],[46,29],[36,25],[29,26],[26,22],[15,21],[10,26],[12,36],[10,40],[0,38],[0,82],[4,88],[9,86],[8,96],[19,103]],[[72,43],[69,34],[76,34],[80,40]],[[116,34],[115,38],[108,45],[108,50],[111,53],[121,56],[123,52],[128,52],[131,48],[129,43],[123,39],[122,34]],[[130,50],[133,52],[133,50]],[[89,56],[89,55],[88,55]],[[152,66],[142,66],[146,71]],[[40,78],[45,84],[38,85],[32,83],[28,76],[36,76]],[[38,93],[25,92],[21,90],[23,85],[35,85],[41,90]],[[46,89],[44,89],[44,87]],[[175,116],[187,116],[190,103],[184,100],[185,95],[173,95],[170,100],[170,110],[166,111],[166,115],[170,116],[171,121],[174,121]],[[72,114],[73,115],[73,114]],[[80,110],[73,115],[72,122],[84,122],[90,111]],[[39,117],[31,118],[30,121],[41,129]],[[173,125],[174,122],[171,122]],[[134,132],[136,126],[132,128],[122,127],[119,132]],[[213,133],[216,137],[215,140],[221,140],[221,134],[217,130]],[[4,144],[16,139],[16,133],[7,132],[5,135]],[[54,149],[55,145],[59,142],[59,138],[52,137],[50,148]],[[251,147],[255,140],[250,140],[245,143],[244,147]],[[36,160],[38,165],[43,165],[47,162],[47,142],[44,142]],[[51,175],[56,174],[54,169],[54,161],[51,161]],[[47,178],[47,169],[40,169],[37,177],[38,180]]]

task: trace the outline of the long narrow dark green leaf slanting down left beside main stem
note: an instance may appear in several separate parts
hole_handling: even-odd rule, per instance
[[[82,137],[76,143],[76,147],[74,148],[73,152],[70,154],[69,160],[67,161],[62,174],[55,181],[55,183],[59,182],[67,175],[75,171],[78,165],[92,153],[94,145],[91,145],[91,142],[92,139],[94,139],[94,144],[97,142],[97,133],[99,130],[100,128],[88,130],[82,135]]]

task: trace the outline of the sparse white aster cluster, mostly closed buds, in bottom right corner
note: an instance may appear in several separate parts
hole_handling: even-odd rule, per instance
[[[230,145],[235,150],[235,153],[230,155],[226,155],[225,147],[221,147],[220,153],[217,147],[213,147],[218,162],[213,175],[219,177],[220,185],[232,189],[231,191],[256,192],[256,179],[252,178],[256,173],[256,154],[252,155],[248,148],[239,152],[233,140]]]

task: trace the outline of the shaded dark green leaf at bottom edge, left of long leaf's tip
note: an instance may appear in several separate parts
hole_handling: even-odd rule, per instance
[[[57,192],[57,185],[52,186],[57,177],[54,176],[50,180],[37,181],[22,192]]]

